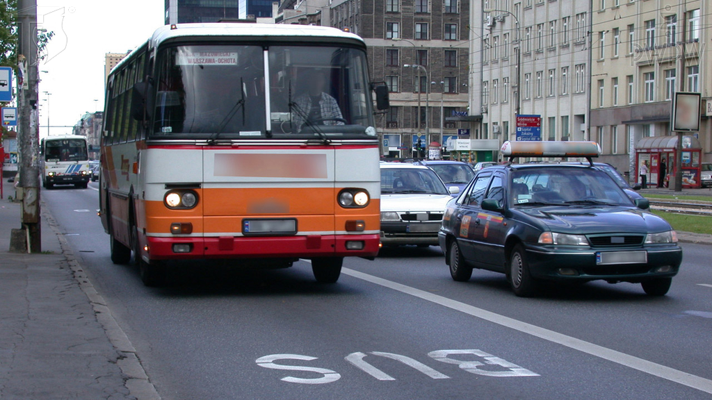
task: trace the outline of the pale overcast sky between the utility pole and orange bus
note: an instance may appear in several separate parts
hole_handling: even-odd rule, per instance
[[[40,137],[71,133],[104,108],[105,53],[125,53],[164,23],[164,0],[37,0],[40,28],[55,33],[40,61]],[[51,95],[46,95],[49,92]],[[49,100],[47,100],[49,98]],[[98,101],[95,101],[98,100]],[[48,111],[49,110],[49,111]]]

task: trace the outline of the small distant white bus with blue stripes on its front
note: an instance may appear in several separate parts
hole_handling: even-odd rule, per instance
[[[86,189],[89,171],[87,138],[78,135],[50,136],[40,141],[42,186],[73,184]]]

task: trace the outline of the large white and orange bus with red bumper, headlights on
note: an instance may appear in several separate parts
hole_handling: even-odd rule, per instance
[[[374,96],[376,105],[374,105]],[[379,248],[365,43],[320,26],[164,26],[109,75],[100,216],[114,263],[311,260],[335,282]],[[204,263],[205,264],[205,263]]]

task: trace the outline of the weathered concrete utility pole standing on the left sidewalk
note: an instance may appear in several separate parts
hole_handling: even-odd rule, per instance
[[[40,231],[39,124],[37,93],[37,0],[17,2],[19,24],[19,63],[23,84],[19,85],[19,173],[22,194],[22,228],[28,253],[42,251]]]

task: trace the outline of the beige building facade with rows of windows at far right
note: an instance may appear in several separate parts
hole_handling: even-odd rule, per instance
[[[701,93],[700,131],[693,135],[702,146],[700,161],[712,161],[710,6],[703,0],[594,2],[591,139],[600,142],[602,161],[636,171],[640,140],[674,135],[676,92]]]

